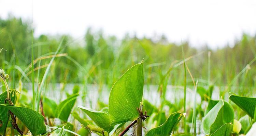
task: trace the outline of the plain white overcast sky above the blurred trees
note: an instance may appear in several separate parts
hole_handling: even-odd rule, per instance
[[[256,33],[256,0],[0,0],[0,17],[31,20],[32,5],[37,36],[83,38],[93,27],[118,38],[163,33],[171,42],[216,48]]]

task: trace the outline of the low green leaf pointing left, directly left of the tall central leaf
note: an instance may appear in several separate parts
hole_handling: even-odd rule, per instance
[[[79,106],[79,108],[85,112],[100,128],[104,129],[104,131],[111,132],[114,129],[114,126],[111,125],[112,122],[109,115],[103,112],[106,111],[106,109],[97,112],[83,106]]]

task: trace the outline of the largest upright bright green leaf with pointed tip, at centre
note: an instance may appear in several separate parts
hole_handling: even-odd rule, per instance
[[[137,120],[144,86],[143,61],[128,69],[113,85],[109,115],[113,124]]]

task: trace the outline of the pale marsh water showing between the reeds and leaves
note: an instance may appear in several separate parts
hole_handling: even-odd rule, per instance
[[[77,98],[77,105],[82,105],[86,107],[90,107],[95,109],[97,106],[98,100],[108,104],[109,101],[109,94],[111,88],[102,85],[98,86],[96,84],[88,84],[84,86],[83,84],[66,84],[63,87],[63,84],[48,84],[47,89],[43,92],[44,96],[48,98],[54,99],[57,103],[66,99],[66,93],[72,94],[72,90],[75,85],[80,87],[80,95]],[[32,96],[31,85],[26,84],[23,85],[24,88],[28,90],[28,95]],[[26,86],[26,87],[25,87]],[[224,89],[225,87],[214,87],[212,99],[218,100],[219,97],[219,90]],[[150,103],[154,104],[155,106],[160,105],[160,93],[157,91],[158,85],[145,85],[144,92],[143,92],[143,99],[148,100]],[[175,103],[180,101],[184,98],[184,88],[183,86],[167,86],[166,91],[166,100],[170,101],[171,103]],[[225,95],[225,98],[228,99],[228,95]],[[194,104],[195,99],[195,89],[194,86],[187,86],[186,90],[186,102],[188,106],[192,106]],[[201,97],[199,94],[196,94],[196,103],[201,102]]]

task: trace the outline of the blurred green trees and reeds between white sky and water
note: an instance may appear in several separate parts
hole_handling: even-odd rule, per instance
[[[12,75],[12,81],[24,77],[23,72],[27,77],[31,76],[31,68],[26,71],[31,64],[31,33],[30,24],[20,18],[0,18],[1,68]],[[49,56],[35,64],[35,75],[39,79],[42,78],[51,55],[55,53],[61,40],[63,43],[58,54],[65,54],[55,58],[48,75],[49,82],[112,85],[127,68],[144,58],[145,84],[158,84],[173,62],[182,61],[181,45],[169,43],[164,35],[159,40],[146,37],[138,39],[129,35],[119,40],[115,36],[103,36],[102,31],[93,32],[89,28],[84,36],[84,45],[69,35],[40,35],[33,38],[34,59]],[[208,51],[211,51],[211,82],[225,85],[256,56],[255,40],[255,36],[244,34],[234,45],[215,50],[208,46],[190,47],[186,42],[183,44],[185,57],[194,56],[186,64],[195,79],[207,82]],[[255,64],[248,67],[237,82],[254,85],[254,69]],[[170,84],[183,84],[183,73],[182,65],[173,69]],[[191,83],[189,75],[188,82]]]

